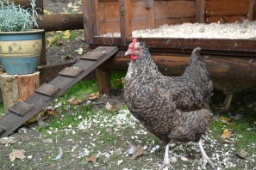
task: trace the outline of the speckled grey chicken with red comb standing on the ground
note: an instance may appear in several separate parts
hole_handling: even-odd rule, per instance
[[[147,46],[133,40],[125,54],[131,58],[124,78],[124,97],[129,111],[165,144],[165,167],[170,166],[169,143],[197,142],[203,167],[210,163],[201,136],[207,131],[212,113],[207,110],[213,85],[200,48],[190,57],[182,76],[163,76]]]

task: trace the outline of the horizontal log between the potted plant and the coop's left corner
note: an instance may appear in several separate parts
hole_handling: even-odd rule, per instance
[[[37,21],[39,28],[45,29],[45,31],[61,31],[84,28],[83,14],[40,15]]]

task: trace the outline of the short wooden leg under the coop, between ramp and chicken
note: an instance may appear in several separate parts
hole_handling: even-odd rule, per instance
[[[96,69],[97,89],[101,95],[110,94],[110,73],[108,69],[99,66]]]

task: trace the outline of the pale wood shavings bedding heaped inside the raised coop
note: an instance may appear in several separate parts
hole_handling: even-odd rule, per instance
[[[120,33],[106,33],[104,37],[120,37]],[[256,21],[234,23],[183,23],[162,25],[155,29],[133,31],[138,38],[184,38],[184,39],[256,39]]]

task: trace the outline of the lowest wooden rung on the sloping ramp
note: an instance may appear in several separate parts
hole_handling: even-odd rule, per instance
[[[32,111],[33,108],[33,105],[19,101],[9,108],[9,112],[14,112],[17,115],[24,117],[28,112]]]

